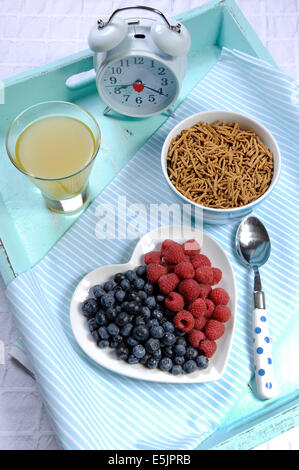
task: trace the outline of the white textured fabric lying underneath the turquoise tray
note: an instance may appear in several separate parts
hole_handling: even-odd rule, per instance
[[[206,0],[0,0],[0,80],[87,48],[89,29],[116,8],[149,5],[168,16]],[[282,70],[299,79],[299,0],[236,0]],[[38,387],[13,359],[17,338],[0,279],[0,449],[57,449]],[[1,352],[1,347],[0,347]],[[299,449],[298,428],[258,449]]]

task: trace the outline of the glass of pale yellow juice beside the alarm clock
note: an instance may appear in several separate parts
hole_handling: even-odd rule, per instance
[[[13,165],[41,190],[48,208],[65,214],[88,200],[88,177],[100,142],[100,128],[88,111],[47,101],[14,119],[6,149]]]

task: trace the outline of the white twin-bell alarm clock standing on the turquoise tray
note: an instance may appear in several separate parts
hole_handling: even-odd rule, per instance
[[[115,17],[133,8],[156,13],[160,21]],[[88,43],[95,52],[96,84],[105,111],[147,117],[169,110],[181,89],[190,42],[183,25],[171,25],[151,7],[119,8],[108,21],[98,20]]]

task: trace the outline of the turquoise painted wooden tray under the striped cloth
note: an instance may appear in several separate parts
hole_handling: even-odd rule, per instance
[[[274,63],[233,0],[213,0],[177,17],[191,33],[188,71],[177,105],[217,61],[223,46]],[[91,176],[92,198],[114,178],[146,140],[167,119],[103,116],[105,108],[94,80],[67,86],[70,76],[92,69],[89,50],[5,80],[5,104],[0,105],[0,272],[8,284],[34,266],[73,224],[78,215],[63,216],[46,209],[40,193],[9,162],[5,135],[13,118],[26,107],[47,100],[76,102],[98,120],[102,131],[100,156]],[[117,138],[116,138],[117,137]],[[298,322],[297,322],[298,323]],[[296,344],[298,326],[285,333]],[[281,343],[284,343],[282,341]],[[270,402],[254,398],[250,390],[228,414],[225,423],[201,449],[250,449],[299,424],[296,377],[283,376],[283,351],[277,348],[280,397]]]

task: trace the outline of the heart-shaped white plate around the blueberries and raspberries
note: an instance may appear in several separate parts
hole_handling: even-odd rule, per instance
[[[202,247],[201,252],[210,258],[213,266],[222,270],[223,276],[219,287],[223,287],[229,293],[230,302],[228,305],[232,312],[231,319],[225,323],[224,335],[217,341],[217,351],[210,359],[207,369],[197,369],[192,374],[179,376],[173,376],[169,372],[163,372],[159,369],[147,369],[141,364],[127,364],[125,361],[117,359],[112,349],[100,349],[89,332],[86,318],[81,313],[81,304],[90,296],[91,287],[107,281],[118,272],[125,272],[143,264],[144,254],[148,251],[159,250],[162,241],[166,238],[171,238],[179,243],[193,238],[198,240]],[[139,240],[128,263],[101,266],[84,276],[73,294],[70,320],[74,336],[83,351],[95,362],[113,372],[153,382],[200,383],[218,380],[224,373],[235,328],[236,305],[237,293],[234,273],[227,255],[218,243],[207,234],[188,227],[160,227],[147,233]]]

